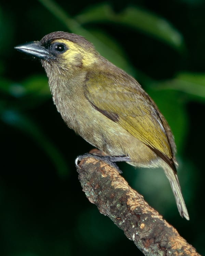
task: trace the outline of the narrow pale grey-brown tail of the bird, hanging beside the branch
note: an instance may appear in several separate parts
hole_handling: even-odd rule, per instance
[[[185,217],[187,220],[189,220],[189,214],[187,211],[187,207],[184,203],[183,196],[181,193],[181,187],[179,185],[179,180],[177,177],[177,174],[169,167],[168,165],[163,166],[164,172],[170,182],[170,185],[172,187],[172,191],[174,193],[174,197],[177,203],[177,208],[179,210],[179,214],[181,217]]]

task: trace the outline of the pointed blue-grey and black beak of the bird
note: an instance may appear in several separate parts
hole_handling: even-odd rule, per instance
[[[14,49],[39,59],[45,59],[49,55],[48,51],[40,45],[39,41],[20,44],[14,47]]]

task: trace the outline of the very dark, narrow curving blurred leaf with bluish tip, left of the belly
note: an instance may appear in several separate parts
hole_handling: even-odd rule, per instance
[[[4,123],[14,126],[28,134],[41,148],[43,148],[47,156],[54,163],[58,174],[62,177],[68,175],[69,170],[65,159],[34,121],[20,112],[9,109],[0,110],[0,119]]]

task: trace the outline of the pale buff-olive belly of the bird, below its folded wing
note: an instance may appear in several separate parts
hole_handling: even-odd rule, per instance
[[[159,157],[148,146],[123,129],[118,122],[94,109],[90,103],[85,106],[77,100],[72,103],[67,100],[66,103],[61,104],[61,108],[57,107],[58,111],[68,127],[88,143],[111,156],[129,156],[131,164],[135,166],[159,166]]]

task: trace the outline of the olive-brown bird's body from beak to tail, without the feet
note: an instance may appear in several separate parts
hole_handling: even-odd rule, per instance
[[[71,129],[109,156],[128,156],[134,166],[161,166],[180,215],[189,219],[172,132],[133,77],[72,33],[53,32],[16,49],[41,59],[54,104]]]

